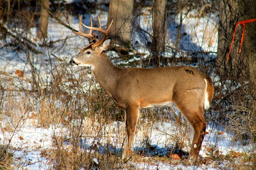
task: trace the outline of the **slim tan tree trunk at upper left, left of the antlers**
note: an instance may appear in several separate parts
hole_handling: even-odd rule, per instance
[[[47,37],[48,28],[48,10],[50,8],[49,0],[39,0],[41,5],[41,12],[39,17],[39,29],[37,32],[37,38],[42,39]]]

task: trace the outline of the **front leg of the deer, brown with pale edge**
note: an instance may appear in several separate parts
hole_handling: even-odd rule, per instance
[[[139,107],[129,106],[127,109],[125,109],[125,115],[127,137],[124,145],[122,158],[132,154],[135,128],[139,118]]]

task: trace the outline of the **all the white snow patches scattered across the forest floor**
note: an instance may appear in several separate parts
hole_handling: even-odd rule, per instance
[[[71,1],[77,2],[74,0],[66,0],[67,3],[70,3]],[[152,23],[150,21],[150,9],[144,8],[142,11],[142,16],[139,20],[140,28],[147,30],[152,34],[151,25]],[[92,18],[94,21],[97,21],[97,16],[100,16],[102,21],[102,26],[106,26],[106,21],[108,17],[107,12],[100,12],[97,11],[96,13],[92,14]],[[208,16],[208,18],[191,18],[189,15],[196,15],[195,11],[192,11],[187,16],[184,16],[184,20],[182,22],[182,31],[187,32],[189,36],[191,37],[185,37],[181,40],[181,43],[183,43],[184,49],[190,49],[191,42],[188,39],[192,39],[192,43],[198,45],[198,48],[204,49],[206,51],[217,51],[217,33],[215,29],[217,29],[216,24],[218,21],[217,13],[215,15]],[[84,23],[90,23],[89,15],[84,15]],[[209,22],[210,21],[210,22]],[[178,19],[176,19],[176,22],[178,23]],[[79,27],[78,24],[78,18],[74,18],[72,16],[69,17],[69,23],[72,24],[75,28]],[[87,24],[88,25],[88,24]],[[208,30],[208,33],[206,35],[206,31]],[[86,39],[80,38],[79,36],[74,36],[74,34],[68,30],[68,28],[65,28],[64,26],[61,26],[60,24],[56,24],[54,21],[49,21],[48,25],[48,39],[47,41],[56,41],[59,39],[66,39],[65,47],[56,46],[56,48],[53,48],[51,51],[44,51],[43,49],[40,49],[38,47],[39,51],[42,51],[43,53],[50,53],[50,54],[56,54],[59,58],[64,59],[65,61],[69,61],[71,56],[74,56],[76,53],[78,53],[79,49],[82,49],[84,44],[87,43]],[[36,30],[35,28],[31,28],[30,30],[31,34],[30,40],[34,43],[39,43],[36,41],[35,35]],[[15,34],[15,32],[14,32]],[[148,37],[149,38],[149,37]],[[139,37],[135,37],[134,41],[139,41]],[[172,39],[169,40],[169,42],[172,42]],[[61,43],[60,43],[61,44]],[[173,43],[169,43],[170,46],[173,45]],[[145,53],[144,57],[149,56],[150,52],[145,49],[138,49],[139,53]],[[111,56],[116,56],[117,54],[113,51],[110,51]],[[32,54],[31,54],[32,55]],[[170,54],[168,54],[170,55]],[[10,49],[2,48],[0,50],[0,70],[4,72],[14,72],[14,70],[21,69],[23,72],[28,72],[28,70],[31,70],[31,66],[29,64],[25,64],[27,62],[27,58],[25,57],[26,54],[22,54],[19,52],[14,52]],[[47,58],[48,55],[45,57]],[[32,56],[34,57],[34,56]],[[49,57],[49,56],[48,56]],[[52,55],[50,55],[51,59],[56,59]],[[35,58],[37,60],[37,58]],[[136,58],[134,59],[136,60]],[[41,59],[38,59],[37,64],[35,64],[35,67],[37,69],[42,69],[42,66],[40,63]],[[131,61],[129,61],[131,62]],[[70,69],[70,68],[68,68]],[[46,80],[47,78],[47,72],[49,70],[44,70],[45,74],[42,74],[42,78]],[[30,77],[31,75],[26,74],[27,77]],[[76,73],[75,77],[78,77],[79,74]],[[91,76],[89,75],[89,78]],[[3,80],[5,81],[5,80]],[[4,82],[3,82],[4,83]],[[68,82],[67,82],[68,83]],[[20,86],[21,83],[19,81],[16,82],[16,86]],[[23,85],[24,86],[24,85]],[[30,88],[29,83],[26,85],[27,89]],[[84,90],[89,88],[89,84],[87,82],[84,82],[82,84]],[[72,92],[75,93],[75,92]],[[87,109],[87,108],[85,108]],[[54,149],[54,144],[52,140],[53,134],[60,134],[61,132],[68,131],[66,127],[61,127],[61,125],[54,127],[53,125],[50,127],[42,128],[37,127],[37,122],[33,120],[33,118],[26,118],[25,120],[22,120],[22,124],[19,124],[19,127],[15,129],[15,131],[8,131],[8,130],[2,130],[0,133],[0,144],[5,145],[8,144],[10,141],[10,146],[14,148],[13,150],[10,150],[14,154],[14,162],[15,164],[12,165],[14,169],[22,169],[23,166],[26,167],[26,169],[31,170],[44,170],[44,169],[50,169],[51,165],[48,165],[48,159],[40,155],[42,151],[46,149]],[[79,120],[78,120],[79,121]],[[4,127],[7,127],[8,124],[10,124],[11,120],[9,117],[4,117],[3,120],[0,122],[0,127],[3,129]],[[176,135],[180,133],[180,129],[176,127],[176,124],[170,121],[164,121],[161,123],[154,124],[154,127],[151,129],[147,129],[150,127],[146,127],[142,123],[139,124],[137,128],[139,129],[138,133],[135,137],[135,144],[134,144],[134,150],[135,152],[143,149],[143,141],[145,134],[150,132],[149,138],[150,142],[153,147],[156,148],[156,153],[159,156],[168,154],[168,151],[166,149],[166,146],[171,146],[174,144],[174,141],[170,140],[170,136]],[[15,127],[15,126],[14,126]],[[114,131],[124,129],[124,123],[114,121],[113,124],[105,124],[105,131]],[[202,149],[200,151],[200,155],[202,157],[207,157],[207,148],[213,149],[213,154],[215,152],[219,152],[219,154],[227,155],[230,151],[235,152],[251,152],[253,149],[252,144],[248,144],[245,146],[242,146],[238,142],[234,142],[232,139],[232,134],[229,134],[225,132],[225,129],[222,129],[224,133],[222,135],[219,135],[220,129],[213,128],[213,127],[207,127],[207,131],[209,134],[205,136],[205,139],[202,144]],[[191,135],[191,134],[190,134]],[[108,147],[108,150],[112,150],[112,152],[117,152],[118,154],[121,153],[121,143],[120,141],[122,139],[119,138],[116,133],[112,133],[110,137],[103,136],[101,139],[101,146],[98,146],[99,153],[104,153],[106,147]],[[94,142],[94,138],[84,138],[82,142],[82,148],[87,150],[89,146],[91,146]],[[109,141],[106,139],[110,139],[110,142],[113,143],[113,148],[110,146],[107,146]],[[68,145],[68,143],[65,143]],[[64,144],[64,145],[65,145]],[[185,148],[185,150],[189,151],[189,148]],[[151,152],[148,152],[146,155],[150,156]],[[145,159],[149,159],[150,157],[145,157]],[[96,158],[93,159],[94,162],[98,162]],[[207,165],[202,165],[200,167],[196,166],[184,166],[182,164],[176,164],[172,165],[169,163],[163,163],[163,162],[155,162],[155,163],[136,163],[136,167],[138,169],[208,169],[208,170],[215,170],[215,169],[225,169],[226,163],[223,162],[221,165],[211,167]]]

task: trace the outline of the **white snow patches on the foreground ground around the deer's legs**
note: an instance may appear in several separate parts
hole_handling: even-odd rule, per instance
[[[45,157],[42,157],[40,154],[43,150],[45,149],[54,149],[53,147],[53,141],[52,141],[52,135],[54,134],[59,134],[60,132],[67,131],[66,128],[54,128],[54,127],[49,127],[49,128],[35,128],[34,125],[30,125],[32,120],[27,119],[25,123],[23,124],[22,127],[20,127],[18,130],[16,130],[14,133],[12,132],[4,132],[3,134],[0,134],[0,142],[1,144],[6,144],[9,139],[11,139],[10,145],[14,148],[14,160],[15,160],[15,165],[13,167],[22,167],[26,166],[27,169],[31,170],[44,170],[44,169],[49,169],[50,165],[48,165],[48,160]],[[33,123],[32,123],[33,124]],[[124,128],[123,122],[117,122],[114,121],[113,124],[106,124],[105,131],[113,131],[114,128]],[[163,124],[157,124],[156,125],[158,128],[153,128],[151,131],[151,144],[152,147],[155,147],[156,150],[154,151],[157,153],[159,156],[161,154],[165,155],[166,148],[165,144],[166,140],[169,135],[161,135],[162,130],[166,129],[167,134],[168,133],[177,133],[175,131],[175,126],[172,122],[165,122]],[[145,127],[143,127],[145,128]],[[143,140],[144,135],[142,133],[142,128],[139,128],[139,132],[136,135],[136,142],[135,146],[140,146],[142,144],[141,140]],[[158,130],[157,130],[158,129]],[[210,132],[205,136],[205,139],[202,144],[202,149],[200,151],[200,154],[202,157],[207,156],[207,151],[206,147],[213,147],[217,148],[221,154],[228,154],[230,151],[236,151],[236,152],[247,152],[252,150],[252,145],[248,146],[241,146],[239,144],[234,145],[234,142],[232,140],[232,136],[227,134],[226,132],[223,135],[218,135],[219,131],[217,129],[212,129],[210,127],[207,127],[207,131]],[[103,137],[101,141],[101,146],[98,146],[98,152],[101,154],[104,154],[106,152],[105,150],[110,150],[112,152],[117,152],[118,154],[121,154],[121,144],[116,143],[115,138],[117,137],[117,134],[111,134],[112,135],[112,141],[113,146],[107,145],[106,138]],[[218,136],[218,137],[217,137]],[[20,139],[22,137],[23,139]],[[4,141],[2,139],[5,139]],[[88,149],[89,146],[91,146],[94,142],[93,138],[87,138],[86,140],[83,140],[82,143],[82,148]],[[68,143],[65,143],[68,145]],[[65,145],[64,144],[64,145]],[[114,148],[116,146],[116,148]],[[140,147],[134,147],[134,150],[137,151],[137,149],[142,149]],[[148,153],[146,155],[150,156],[152,153]],[[152,156],[152,155],[151,155]],[[149,159],[150,157],[145,157],[145,159]],[[94,159],[96,161],[96,159]],[[29,165],[27,165],[29,163]],[[219,166],[219,168],[225,167],[225,162],[223,162],[222,165]],[[184,165],[172,165],[168,163],[163,163],[163,162],[151,162],[150,164],[146,162],[141,162],[141,163],[136,163],[136,167],[139,169],[211,169],[215,170],[216,168],[212,168],[206,165],[202,165],[201,167],[196,167],[196,166],[184,166]]]

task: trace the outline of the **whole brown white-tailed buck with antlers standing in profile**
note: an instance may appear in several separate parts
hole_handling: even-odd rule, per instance
[[[73,67],[90,66],[99,85],[125,110],[127,141],[123,155],[130,154],[139,112],[142,108],[170,107],[173,104],[182,112],[194,129],[189,159],[197,159],[206,131],[204,109],[210,107],[214,88],[211,77],[189,66],[170,66],[153,69],[120,68],[113,65],[108,55],[111,39],[108,30],[85,26],[79,18],[79,32],[75,34],[89,38],[89,45],[70,61]],[[81,24],[90,29],[89,34],[81,31]],[[92,30],[100,31],[99,40]]]

